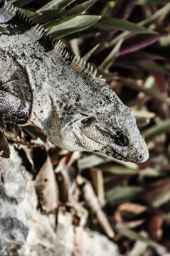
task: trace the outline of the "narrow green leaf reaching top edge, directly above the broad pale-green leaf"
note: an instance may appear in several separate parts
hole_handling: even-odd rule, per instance
[[[51,27],[57,26],[57,25],[62,24],[68,20],[73,19],[74,17],[78,16],[79,14],[84,12],[86,9],[88,9],[90,6],[92,6],[95,2],[96,2],[96,0],[89,0],[85,3],[82,3],[78,6],[76,6],[75,8],[71,9],[71,11],[68,12],[68,14],[66,14],[64,17],[61,17],[58,20],[54,20],[50,23],[45,24],[44,28],[49,29]]]

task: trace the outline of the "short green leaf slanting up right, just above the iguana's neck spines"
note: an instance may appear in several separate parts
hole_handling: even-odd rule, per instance
[[[115,47],[112,49],[112,51],[109,53],[109,55],[107,56],[107,58],[105,58],[105,60],[103,61],[102,64],[102,69],[104,70],[108,70],[111,65],[114,63],[114,60],[116,59],[116,55],[119,53],[120,47],[122,45],[123,39],[121,39],[116,45]]]

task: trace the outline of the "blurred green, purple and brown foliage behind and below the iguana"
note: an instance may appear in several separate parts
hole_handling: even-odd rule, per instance
[[[96,67],[135,113],[150,158],[136,164],[64,151],[28,126],[16,139],[9,121],[0,145],[3,157],[9,154],[7,138],[34,176],[42,211],[71,212],[75,226],[105,234],[122,256],[170,255],[170,2],[8,3]]]

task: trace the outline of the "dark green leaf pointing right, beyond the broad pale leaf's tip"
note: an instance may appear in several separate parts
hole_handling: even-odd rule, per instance
[[[96,23],[96,26],[100,26],[102,28],[104,27],[106,31],[107,29],[116,29],[130,31],[134,33],[156,33],[153,30],[146,29],[139,24],[111,17],[101,17],[101,19]]]

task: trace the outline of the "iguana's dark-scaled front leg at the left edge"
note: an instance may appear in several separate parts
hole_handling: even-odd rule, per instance
[[[7,118],[15,123],[24,123],[30,115],[30,106],[12,93],[0,89],[0,118]]]

